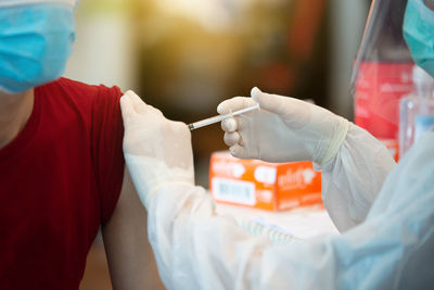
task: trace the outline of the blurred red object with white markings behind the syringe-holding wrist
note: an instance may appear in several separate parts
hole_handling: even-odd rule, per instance
[[[355,85],[355,123],[376,138],[397,139],[399,100],[413,89],[412,62],[359,65]]]

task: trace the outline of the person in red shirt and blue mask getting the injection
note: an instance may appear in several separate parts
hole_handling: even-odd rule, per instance
[[[77,2],[0,1],[0,289],[78,289],[100,227],[114,288],[156,289],[123,93],[60,78]]]

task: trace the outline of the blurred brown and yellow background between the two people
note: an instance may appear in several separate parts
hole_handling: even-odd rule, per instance
[[[80,0],[66,77],[135,90],[192,123],[264,91],[311,99],[349,119],[349,78],[369,0]],[[219,124],[192,131],[196,182],[226,150]],[[111,289],[101,240],[81,289]]]

